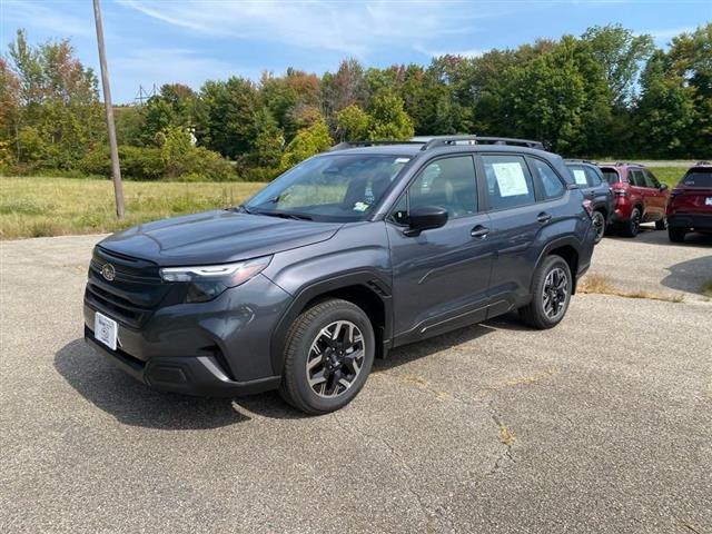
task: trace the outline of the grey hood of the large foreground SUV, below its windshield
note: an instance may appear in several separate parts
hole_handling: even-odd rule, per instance
[[[215,210],[135,226],[107,237],[99,246],[164,267],[210,265],[324,241],[342,226]]]

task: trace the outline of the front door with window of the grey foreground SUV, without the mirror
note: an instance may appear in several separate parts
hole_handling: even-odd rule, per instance
[[[442,228],[407,237],[416,206],[447,209]],[[386,222],[393,265],[395,343],[408,343],[486,316],[492,250],[490,217],[478,212],[474,159],[469,154],[428,162]]]

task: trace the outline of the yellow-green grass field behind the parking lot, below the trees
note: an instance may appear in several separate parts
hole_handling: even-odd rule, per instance
[[[669,186],[685,167],[654,167]],[[125,181],[126,219],[119,224],[109,180],[0,177],[0,239],[115,231],[121,228],[241,202],[264,184]]]

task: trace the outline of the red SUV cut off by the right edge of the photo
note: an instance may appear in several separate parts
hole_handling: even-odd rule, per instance
[[[683,241],[689,231],[712,233],[712,164],[691,167],[670,194],[668,235]]]

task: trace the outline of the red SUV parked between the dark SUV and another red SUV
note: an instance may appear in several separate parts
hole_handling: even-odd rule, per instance
[[[670,191],[649,169],[639,164],[600,166],[613,191],[612,226],[625,237],[635,237],[641,222],[665,229],[665,207]]]

